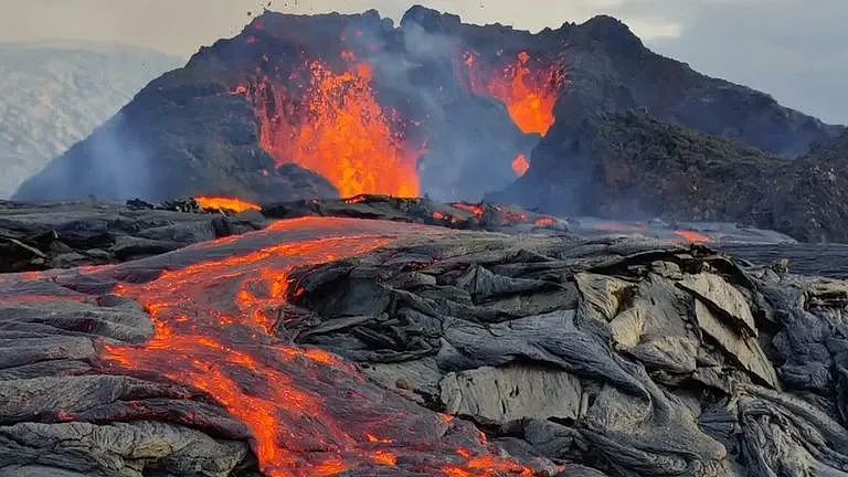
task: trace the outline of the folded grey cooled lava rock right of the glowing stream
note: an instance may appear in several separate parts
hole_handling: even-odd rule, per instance
[[[393,299],[382,300],[370,321],[322,324],[327,331],[303,341],[359,361],[421,402],[517,437],[531,453],[607,475],[844,471],[846,421],[834,372],[846,336],[830,327],[845,309],[845,283],[778,277],[708,250],[656,243],[604,243],[577,256],[569,251],[585,244],[544,239],[491,239],[478,245],[486,252],[467,240],[445,245],[439,255],[453,257],[449,266],[436,259],[415,267],[433,280],[395,285],[391,277],[409,265],[389,265],[380,254],[348,266],[344,276],[352,277],[382,264],[381,294]],[[415,257],[428,250],[403,248]],[[537,258],[523,262],[529,251]],[[543,278],[534,272],[539,256],[549,264]],[[510,292],[475,303],[457,289],[457,273],[479,267],[509,269],[513,282],[540,280],[534,289],[512,285],[511,293],[551,308],[488,312],[492,303],[509,303]],[[373,292],[352,288],[331,269],[308,272],[304,300],[318,299],[321,274],[347,303],[369,299]],[[576,289],[579,299],[556,301],[542,284]],[[337,306],[320,316],[332,322],[344,315]],[[360,329],[405,338],[362,340]],[[415,351],[421,340],[435,359]]]

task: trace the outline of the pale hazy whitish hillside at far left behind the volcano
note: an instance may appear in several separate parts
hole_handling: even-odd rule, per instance
[[[123,45],[0,44],[0,198],[179,64]]]

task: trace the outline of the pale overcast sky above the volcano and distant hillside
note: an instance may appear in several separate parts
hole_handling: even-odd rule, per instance
[[[742,83],[829,123],[848,124],[848,0],[420,0],[471,23],[540,30],[607,13],[654,51]],[[257,0],[0,0],[0,41],[123,42],[188,57],[233,36]],[[399,19],[399,0],[274,0],[272,10]]]

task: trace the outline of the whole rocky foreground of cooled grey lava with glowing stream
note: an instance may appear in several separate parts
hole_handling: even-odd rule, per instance
[[[0,275],[0,476],[848,473],[848,283],[635,237],[125,212],[77,229],[199,243]]]

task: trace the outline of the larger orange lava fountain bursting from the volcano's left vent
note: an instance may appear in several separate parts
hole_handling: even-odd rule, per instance
[[[342,59],[349,64],[342,73],[320,61],[310,63],[305,94],[288,95],[267,81],[236,87],[256,107],[263,148],[277,166],[296,163],[322,176],[341,197],[420,195],[417,161],[423,151],[406,144],[399,132],[401,121],[381,107],[371,67],[354,64],[349,52]]]

